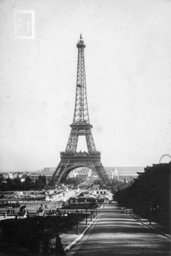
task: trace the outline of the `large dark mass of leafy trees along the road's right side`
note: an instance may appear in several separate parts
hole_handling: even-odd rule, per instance
[[[152,164],[127,188],[114,193],[118,205],[169,227],[171,162]]]

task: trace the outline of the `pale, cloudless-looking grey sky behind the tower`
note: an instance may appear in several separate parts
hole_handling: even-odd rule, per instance
[[[146,166],[170,154],[171,1],[2,0],[0,10],[1,171],[59,163],[80,33],[103,165]],[[16,10],[35,11],[34,39],[15,38]]]

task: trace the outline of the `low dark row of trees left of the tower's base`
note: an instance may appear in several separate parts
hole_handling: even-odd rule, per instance
[[[0,191],[11,191],[11,190],[30,190],[30,189],[42,189],[47,184],[46,177],[39,176],[36,182],[34,182],[31,177],[27,176],[26,180],[24,182],[21,182],[21,179],[19,176],[17,176],[15,179],[6,179],[5,181],[1,179],[0,182]]]

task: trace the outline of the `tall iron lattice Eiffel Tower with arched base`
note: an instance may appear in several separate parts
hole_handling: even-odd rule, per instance
[[[87,167],[94,170],[98,175],[101,184],[106,186],[111,181],[108,178],[103,164],[101,163],[100,152],[96,150],[93,135],[91,132],[92,125],[89,122],[89,112],[87,107],[87,93],[85,84],[85,63],[84,63],[84,40],[80,35],[77,44],[78,63],[77,63],[77,86],[75,97],[75,110],[73,122],[70,125],[71,132],[65,151],[61,152],[61,161],[56,171],[48,182],[48,186],[55,186],[63,183],[68,174],[78,167]],[[87,143],[87,152],[77,152],[78,136],[85,136]]]

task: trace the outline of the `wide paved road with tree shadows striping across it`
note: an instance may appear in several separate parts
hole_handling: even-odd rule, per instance
[[[87,234],[67,255],[71,256],[168,256],[171,240],[131,219],[123,211],[105,205]]]

